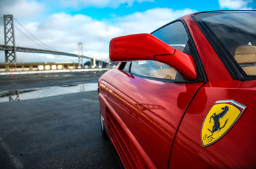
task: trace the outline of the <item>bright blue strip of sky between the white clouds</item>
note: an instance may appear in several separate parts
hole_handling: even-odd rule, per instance
[[[50,3],[49,3],[50,4]],[[197,11],[205,10],[220,10],[220,4],[218,1],[167,1],[167,0],[156,0],[156,1],[145,1],[143,3],[138,3],[135,1],[133,4],[122,3],[117,8],[112,7],[102,7],[102,6],[54,6],[54,8],[49,9],[50,13],[58,13],[61,11],[66,11],[71,15],[83,14],[89,15],[93,18],[103,20],[104,18],[111,18],[113,14],[118,16],[129,15],[134,12],[143,12],[153,8],[172,8],[173,10],[184,10],[185,8],[194,9]]]

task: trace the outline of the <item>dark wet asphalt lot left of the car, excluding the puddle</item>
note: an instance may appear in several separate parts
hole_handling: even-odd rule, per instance
[[[98,75],[1,77],[0,90],[97,82]],[[0,103],[0,168],[120,168],[100,132],[97,91]]]

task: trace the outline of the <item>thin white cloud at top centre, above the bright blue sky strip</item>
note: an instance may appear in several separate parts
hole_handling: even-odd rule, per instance
[[[83,7],[86,6],[93,6],[97,8],[104,8],[104,7],[111,7],[111,8],[117,8],[120,6],[120,4],[125,4],[127,6],[132,6],[132,4],[137,1],[138,3],[143,3],[144,1],[153,2],[154,0],[73,0],[73,1],[65,1],[61,0],[61,3],[64,6],[72,6],[72,7],[78,7],[80,5],[83,5]]]

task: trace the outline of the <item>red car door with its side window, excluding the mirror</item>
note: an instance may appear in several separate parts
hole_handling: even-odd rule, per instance
[[[179,20],[152,33],[195,57]],[[196,62],[196,61],[195,61]],[[109,87],[108,131],[125,168],[167,168],[177,128],[196,91],[200,73],[187,82],[157,61],[122,62]]]

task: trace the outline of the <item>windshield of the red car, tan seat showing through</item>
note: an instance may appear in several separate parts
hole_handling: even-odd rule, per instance
[[[212,11],[195,18],[220,40],[247,75],[256,75],[256,11]]]

